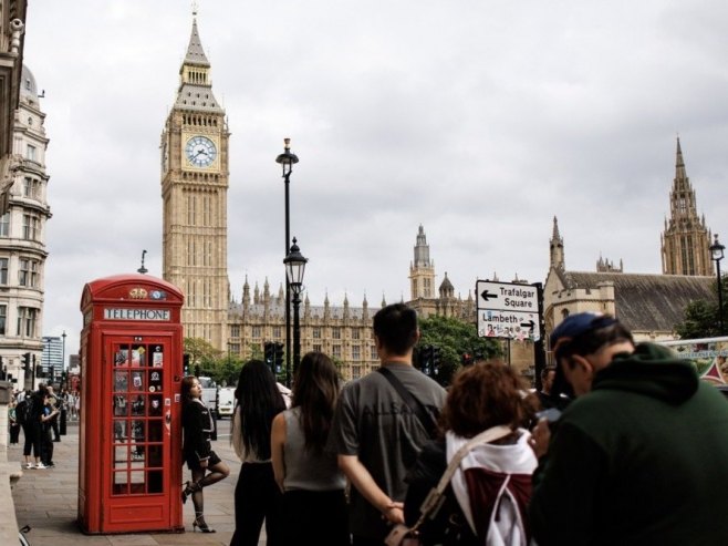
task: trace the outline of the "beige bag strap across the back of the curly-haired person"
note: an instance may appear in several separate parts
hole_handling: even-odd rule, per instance
[[[437,511],[443,505],[443,502],[445,502],[445,497],[443,495],[447,488],[447,485],[450,483],[450,480],[453,480],[453,475],[459,466],[460,461],[462,461],[462,457],[465,457],[475,446],[499,440],[503,436],[507,436],[511,432],[513,431],[506,425],[492,426],[487,431],[482,431],[480,434],[474,436],[466,444],[460,446],[460,449],[453,456],[450,463],[447,465],[447,468],[443,473],[443,476],[440,477],[437,486],[433,487],[427,497],[425,497],[425,501],[419,507],[419,518],[415,525],[412,527],[407,527],[403,524],[395,525],[387,537],[384,539],[384,544],[387,546],[419,546],[422,540],[419,538],[418,529],[428,517],[434,517],[435,514],[437,514]]]

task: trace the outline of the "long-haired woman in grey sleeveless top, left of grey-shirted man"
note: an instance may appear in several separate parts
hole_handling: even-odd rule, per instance
[[[350,544],[346,478],[336,454],[324,451],[337,398],[334,363],[322,352],[306,353],[293,382],[291,409],[275,416],[271,435],[285,544]]]

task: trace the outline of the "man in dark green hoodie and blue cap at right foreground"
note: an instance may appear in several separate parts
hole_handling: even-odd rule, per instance
[[[550,341],[576,400],[533,430],[539,546],[728,544],[728,403],[717,389],[606,315],[572,315]]]

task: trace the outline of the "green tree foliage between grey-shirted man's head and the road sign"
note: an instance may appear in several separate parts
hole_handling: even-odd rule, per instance
[[[498,342],[478,337],[475,323],[451,317],[431,316],[419,321],[422,338],[417,348],[431,344],[440,348],[440,367],[434,379],[450,383],[453,374],[462,365],[464,354],[478,354],[485,359],[501,356]]]

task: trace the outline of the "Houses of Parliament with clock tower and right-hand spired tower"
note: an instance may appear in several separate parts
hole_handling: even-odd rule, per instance
[[[267,279],[262,287],[257,281],[251,287],[246,278],[241,297],[236,299],[231,293],[227,270],[230,134],[226,112],[212,92],[210,68],[194,19],[179,69],[176,101],[160,141],[163,277],[185,293],[185,337],[202,338],[223,353],[247,359],[267,341],[285,340],[285,298],[283,287],[271,288]],[[620,299],[621,291],[627,293],[625,279],[643,282],[643,288],[647,282],[647,288],[658,291],[677,290],[685,298],[705,295],[707,276],[713,274],[709,231],[705,219],[697,218],[695,193],[685,175],[679,141],[677,163],[670,219],[662,237],[664,277],[673,279],[669,287],[653,278],[659,276],[636,276],[635,280],[634,275],[623,274],[621,267],[610,262],[597,264],[596,274],[568,270],[563,238],[554,218],[544,289],[547,331],[578,310],[607,310],[622,317],[638,305],[637,301],[627,309]],[[435,265],[423,226],[415,237],[407,303],[423,317],[438,315],[475,322],[476,302],[470,291],[467,298],[456,296],[447,274],[436,287]],[[645,280],[646,277],[649,278]],[[474,272],[472,286],[476,279]],[[675,310],[679,306],[684,309],[685,298],[675,300]],[[316,350],[337,359],[344,363],[345,379],[364,375],[378,365],[372,317],[384,305],[383,299],[376,307],[370,307],[366,296],[355,305],[350,303],[349,297],[341,305],[332,305],[327,297],[323,305],[312,305],[306,296],[301,308],[302,353]],[[628,326],[642,328],[638,323]],[[659,336],[666,328],[666,323],[646,327],[648,332]],[[524,354],[528,361],[528,347]],[[532,354],[531,349],[531,358]]]

